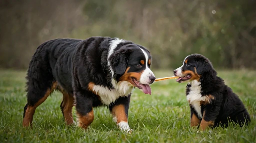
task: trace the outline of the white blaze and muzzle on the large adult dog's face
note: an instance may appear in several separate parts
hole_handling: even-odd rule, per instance
[[[150,81],[149,77],[150,76],[155,76],[154,73],[151,71],[151,69],[148,67],[148,60],[149,60],[149,57],[148,57],[148,54],[145,52],[144,49],[140,48],[145,56],[145,66],[146,66],[146,69],[144,70],[144,72],[141,74],[141,78],[140,78],[140,83],[142,84],[148,84]]]

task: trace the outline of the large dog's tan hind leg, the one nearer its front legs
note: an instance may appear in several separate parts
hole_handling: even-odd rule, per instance
[[[63,101],[60,104],[60,109],[62,111],[65,122],[67,123],[67,125],[69,125],[74,123],[74,120],[72,117],[72,107],[74,104],[74,96],[71,94],[68,94],[63,90],[61,90],[61,92],[63,94]]]

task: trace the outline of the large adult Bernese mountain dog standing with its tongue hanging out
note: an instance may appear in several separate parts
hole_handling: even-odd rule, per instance
[[[134,87],[151,94],[155,76],[150,52],[118,38],[54,39],[41,44],[27,71],[27,104],[23,126],[30,126],[36,108],[54,91],[63,94],[60,108],[65,122],[88,128],[93,107],[106,105],[122,131],[129,132],[128,109]]]

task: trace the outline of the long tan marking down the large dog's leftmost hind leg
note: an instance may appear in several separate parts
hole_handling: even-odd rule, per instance
[[[52,82],[52,86],[47,89],[47,91],[45,92],[45,95],[44,97],[42,97],[41,99],[38,100],[38,102],[34,105],[34,106],[28,106],[27,107],[27,110],[25,112],[25,117],[23,118],[23,122],[22,122],[22,125],[24,127],[27,127],[29,126],[30,124],[32,124],[33,122],[33,116],[34,116],[34,113],[36,111],[36,108],[42,104],[43,102],[45,102],[45,100],[47,99],[47,97],[52,93],[52,91],[54,89],[56,89],[57,87],[57,82]]]

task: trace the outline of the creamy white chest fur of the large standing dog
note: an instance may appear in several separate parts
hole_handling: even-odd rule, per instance
[[[109,105],[115,102],[119,97],[128,96],[133,90],[133,86],[131,85],[132,84],[127,81],[118,82],[117,89],[108,89],[100,85],[94,85],[93,91],[100,96],[103,104]]]

